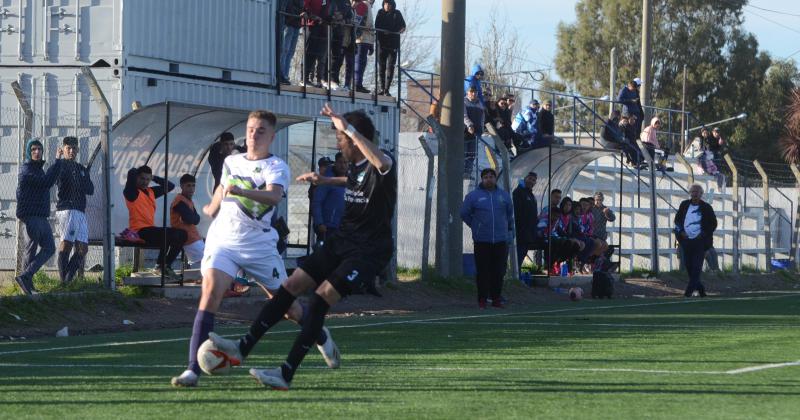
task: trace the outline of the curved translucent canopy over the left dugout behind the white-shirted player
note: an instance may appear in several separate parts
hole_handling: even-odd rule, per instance
[[[167,115],[169,113],[169,116]],[[156,176],[164,176],[165,160],[169,166],[170,181],[178,184],[183,173],[195,174],[206,163],[206,152],[225,131],[234,137],[245,135],[249,110],[224,109],[210,106],[165,102],[149,105],[134,111],[114,124],[113,162],[111,180],[112,200],[123,204],[122,190],[130,168],[148,165]],[[292,124],[310,121],[310,118],[276,115],[275,131]],[[169,121],[167,120],[169,118]],[[169,146],[167,146],[169,124]],[[198,179],[198,187],[201,185]],[[178,191],[175,191],[178,192]],[[211,191],[197,188],[194,202],[198,208],[211,201]],[[119,200],[119,201],[117,201]],[[161,207],[162,199],[157,200]],[[124,205],[114,206],[112,230],[121,232],[128,226],[128,212]],[[161,209],[156,212],[156,215]]]

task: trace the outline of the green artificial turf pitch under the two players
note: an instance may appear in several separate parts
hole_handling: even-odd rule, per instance
[[[800,361],[798,314],[772,294],[330,319],[342,368],[312,349],[288,392],[247,374],[281,363],[288,323],[196,389],[169,385],[188,329],[2,342],[0,417],[798,418],[800,363],[735,373]]]

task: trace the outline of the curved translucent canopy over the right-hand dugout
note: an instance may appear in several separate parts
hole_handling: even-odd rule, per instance
[[[589,163],[604,157],[619,155],[619,150],[596,149],[584,146],[553,145],[521,153],[511,162],[512,179],[522,179],[528,172],[536,172],[539,182],[533,195],[544,206],[549,203],[549,189],[569,191],[572,184]],[[542,180],[549,175],[549,182]]]

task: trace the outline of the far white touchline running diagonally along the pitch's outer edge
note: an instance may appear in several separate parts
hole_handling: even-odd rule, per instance
[[[800,294],[800,293],[798,293]],[[649,303],[636,303],[631,305],[605,305],[605,306],[580,306],[574,308],[562,308],[562,309],[549,309],[549,310],[542,310],[542,311],[526,311],[526,312],[506,312],[506,311],[498,311],[495,313],[490,314],[480,314],[480,315],[456,315],[456,316],[446,316],[446,317],[438,317],[438,318],[428,318],[428,319],[403,319],[397,321],[382,321],[382,322],[372,322],[372,323],[364,323],[364,324],[354,324],[354,325],[339,325],[339,326],[330,326],[330,329],[345,329],[345,328],[367,328],[367,327],[380,327],[386,325],[399,325],[399,324],[415,324],[415,323],[427,323],[427,322],[437,322],[437,321],[455,321],[455,320],[467,320],[467,319],[485,319],[485,318],[497,318],[502,316],[521,316],[521,315],[541,315],[541,314],[552,314],[552,313],[563,313],[563,312],[584,312],[584,311],[594,311],[594,310],[601,310],[601,309],[626,309],[626,308],[638,308],[638,307],[646,307],[646,306],[662,306],[662,305],[690,305],[694,303],[712,303],[712,302],[727,302],[727,301],[740,301],[740,300],[747,300],[747,301],[755,301],[755,300],[771,300],[771,299],[780,299],[786,296],[796,296],[795,295],[780,295],[780,296],[763,296],[763,297],[736,297],[736,298],[714,298],[714,299],[693,299],[693,300],[674,300],[674,301],[667,301],[667,302],[649,302]],[[286,334],[286,333],[296,333],[297,330],[288,330],[288,331],[276,331],[270,332],[268,334]],[[236,335],[227,335],[226,337],[236,337]],[[95,343],[95,344],[84,344],[84,345],[77,345],[77,346],[60,346],[60,347],[49,347],[49,348],[40,348],[40,349],[22,349],[22,350],[10,350],[10,351],[3,351],[0,352],[0,356],[12,355],[12,354],[27,354],[27,353],[42,353],[42,352],[49,352],[49,351],[65,351],[65,350],[77,350],[77,349],[88,349],[88,348],[101,348],[101,347],[117,347],[117,346],[134,346],[134,345],[141,345],[141,344],[159,344],[159,343],[170,343],[176,341],[188,341],[189,337],[183,338],[166,338],[166,339],[159,339],[159,340],[145,340],[145,341],[117,341],[111,343]]]

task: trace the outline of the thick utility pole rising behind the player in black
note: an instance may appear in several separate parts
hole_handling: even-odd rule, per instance
[[[442,0],[442,75],[439,106],[445,138],[439,141],[436,210],[436,271],[462,274],[463,243],[459,209],[464,196],[464,34],[466,0]]]

